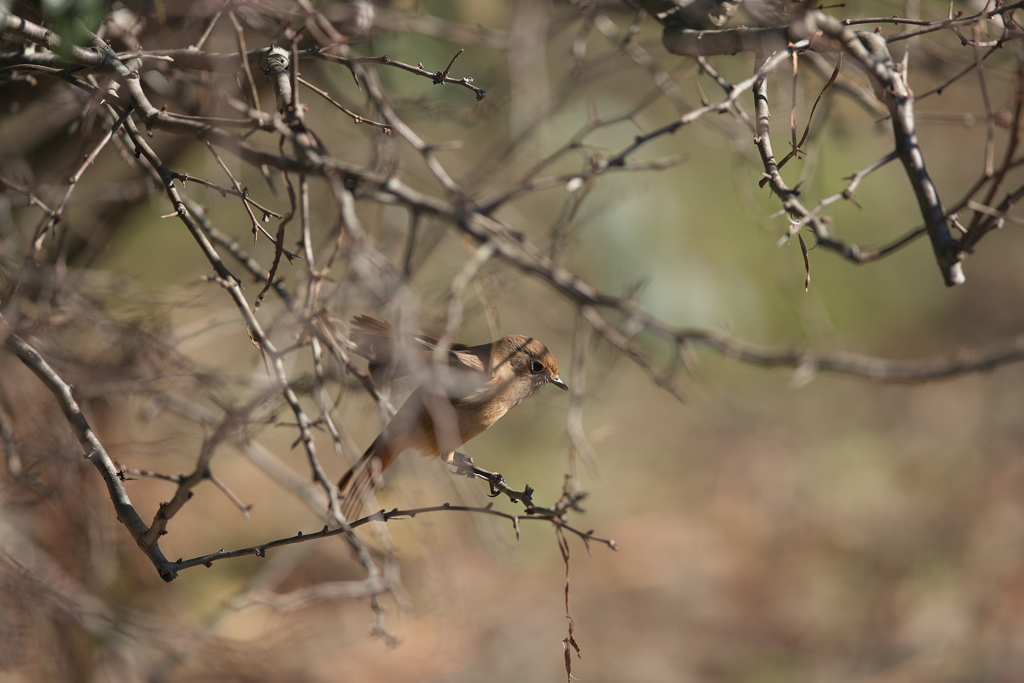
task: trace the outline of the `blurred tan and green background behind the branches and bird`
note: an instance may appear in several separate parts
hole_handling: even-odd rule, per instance
[[[952,4],[966,14],[981,8]],[[792,5],[749,3],[730,25],[780,24]],[[233,53],[240,36],[248,49],[284,44],[286,29],[312,15],[302,7],[13,3],[11,11],[55,30],[82,16],[119,51],[203,40],[202,50]],[[477,101],[468,88],[400,69],[364,65],[359,76],[304,59],[302,78],[337,103],[371,121],[403,122],[431,145],[424,155],[409,135],[354,123],[303,89],[306,124],[332,157],[445,201],[483,206],[511,194],[496,203],[494,218],[668,326],[772,349],[892,359],[956,354],[1024,334],[1019,211],[967,259],[961,287],[943,286],[927,240],[854,265],[814,250],[808,237],[805,291],[804,257],[796,241],[777,246],[790,223],[758,186],[764,168],[740,114],[705,115],[642,145],[625,167],[602,167],[636,136],[724,97],[696,60],[668,54],[659,24],[628,2],[393,0],[315,9],[345,36],[345,54],[386,54],[437,72],[465,50],[450,76],[471,77],[486,91]],[[947,7],[854,1],[824,11],[941,20]],[[1004,35],[1005,26],[986,19],[964,31],[981,43]],[[876,27],[884,34],[912,28],[882,19],[859,26]],[[299,40],[311,47],[315,32]],[[166,217],[174,208],[122,136],[82,174],[60,221],[33,252],[46,220],[34,200],[60,204],[110,122],[99,95],[42,68],[14,69],[25,52],[16,37],[4,42],[4,316],[75,386],[112,458],[128,468],[126,487],[144,520],[175,489],[147,473],[191,471],[226,416],[245,418],[211,466],[245,513],[204,482],[161,540],[168,558],[319,529],[322,492],[296,443],[295,416],[238,309],[209,282],[196,241]],[[908,80],[919,96],[943,88],[919,100],[916,116],[929,169],[954,205],[983,177],[986,154],[999,162],[1017,134],[1019,40],[995,51],[964,46],[945,30],[891,49],[897,59],[909,49]],[[725,83],[753,73],[749,53],[707,60]],[[779,156],[788,150],[791,109],[799,139],[833,66],[801,58],[796,77],[786,62],[770,78]],[[353,71],[367,80],[357,83]],[[272,112],[268,79],[253,76],[262,109]],[[157,106],[191,116],[238,118],[228,100],[250,99],[238,69],[167,62],[146,71],[142,84]],[[891,127],[863,94],[866,85],[852,62],[844,65],[818,104],[803,158],[783,169],[805,205],[841,191],[849,176],[892,152]],[[752,116],[750,93],[737,103]],[[279,153],[268,133],[252,141]],[[174,171],[230,186],[218,160],[188,136],[158,129],[150,143]],[[443,189],[428,157],[458,194]],[[220,158],[253,200],[289,212],[276,171],[224,152]],[[1010,189],[997,199],[1017,176],[1016,169],[1007,174]],[[262,285],[226,245],[237,241],[264,269],[273,245],[262,236],[254,244],[237,197],[178,184],[223,236],[217,248],[253,303]],[[400,572],[400,587],[381,597],[397,646],[372,637],[366,598],[337,588],[365,578],[338,538],[189,568],[165,584],[117,522],[53,397],[4,351],[0,680],[562,680],[566,581],[582,649],[571,671],[582,681],[1019,680],[1024,369],[887,384],[766,370],[693,345],[673,378],[679,400],[536,271],[494,257],[453,294],[479,246],[458,221],[414,216],[383,191],[355,186],[368,249],[387,264],[370,276],[368,252],[352,246],[350,225],[342,229],[328,183],[313,178],[310,191],[311,244],[323,268],[315,302],[291,307],[271,292],[257,317],[289,349],[286,368],[303,405],[314,417],[332,416],[340,431],[337,440],[323,426],[316,431],[330,477],[379,432],[381,411],[337,358],[328,357],[327,379],[315,380],[310,318],[341,337],[358,313],[440,333],[455,298],[459,341],[536,336],[578,392],[570,402],[541,391],[464,451],[513,487],[532,485],[541,504],[558,499],[568,476],[589,496],[585,511],[566,521],[615,540],[618,550],[588,549],[568,536],[566,565],[547,522],[523,521],[517,539],[506,520],[455,512],[362,527],[360,536],[381,556],[392,554],[389,566]],[[855,204],[824,213],[834,236],[864,247],[922,224],[896,163],[868,175]],[[279,222],[265,227],[272,234]],[[285,246],[299,251],[298,220],[288,230]],[[284,259],[278,272],[299,301],[307,265]],[[672,365],[676,352],[666,339],[599,310],[632,335],[656,373]],[[413,388],[398,382],[388,395],[398,403]],[[573,420],[582,420],[585,440],[570,439]],[[404,456],[389,470],[381,505],[489,502],[482,482],[445,470]],[[507,500],[494,504],[521,510]]]

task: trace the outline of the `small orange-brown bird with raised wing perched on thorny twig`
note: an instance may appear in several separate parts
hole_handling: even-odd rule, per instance
[[[502,337],[479,346],[452,344],[441,364],[434,357],[437,339],[417,335],[403,348],[390,325],[367,315],[352,319],[350,338],[355,352],[370,360],[375,382],[417,371],[430,381],[410,395],[338,482],[343,496],[341,510],[348,520],[355,519],[381,473],[403,451],[444,456],[451,463],[456,449],[545,384],[568,389],[558,378],[555,356],[530,337]]]

